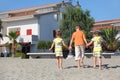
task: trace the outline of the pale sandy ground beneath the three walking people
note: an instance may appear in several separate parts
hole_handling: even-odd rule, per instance
[[[120,80],[120,56],[103,58],[103,70],[93,69],[92,58],[85,58],[78,69],[74,58],[63,59],[63,70],[56,59],[0,58],[0,80]]]

